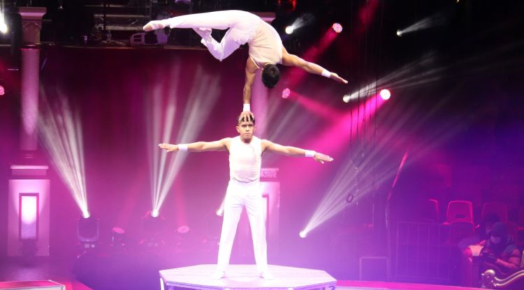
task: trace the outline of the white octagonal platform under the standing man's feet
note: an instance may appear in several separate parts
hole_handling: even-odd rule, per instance
[[[259,277],[255,265],[230,265],[226,277],[212,280],[217,265],[160,270],[161,289],[334,289],[337,280],[323,270],[270,265],[274,280]]]

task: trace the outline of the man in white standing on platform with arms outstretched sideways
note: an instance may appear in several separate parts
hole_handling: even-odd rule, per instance
[[[251,116],[237,119],[237,137],[224,138],[214,142],[194,142],[191,144],[159,144],[168,152],[176,151],[229,151],[229,183],[224,199],[224,220],[220,235],[217,270],[212,279],[221,279],[226,275],[226,268],[231,257],[233,240],[237,231],[242,208],[245,206],[252,231],[256,268],[264,279],[273,279],[268,271],[267,244],[265,241],[265,222],[263,217],[263,197],[260,183],[262,154],[279,153],[289,156],[305,156],[323,163],[333,158],[315,151],[292,146],[282,146],[253,134],[255,121]]]

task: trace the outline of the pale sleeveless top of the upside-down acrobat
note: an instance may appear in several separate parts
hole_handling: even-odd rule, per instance
[[[260,20],[259,26],[249,45],[249,57],[262,68],[266,63],[282,63],[282,40],[277,31],[270,24]]]

